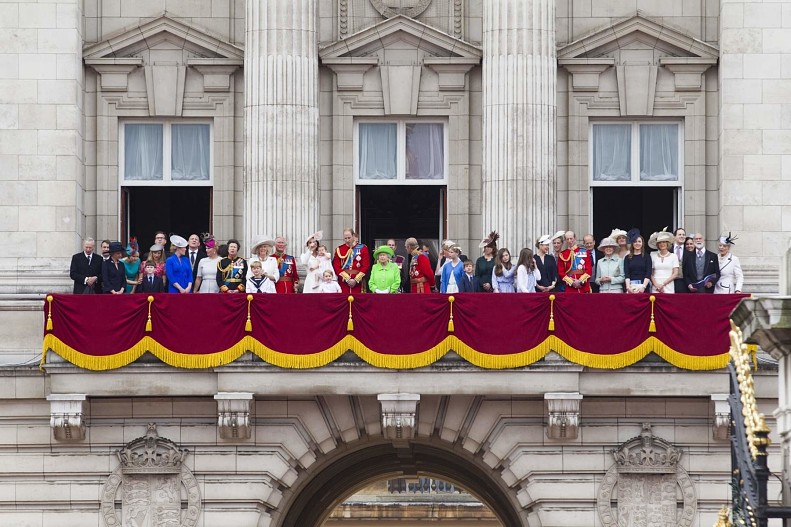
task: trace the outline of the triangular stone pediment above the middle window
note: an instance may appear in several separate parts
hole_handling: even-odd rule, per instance
[[[406,43],[437,57],[477,60],[483,57],[481,48],[403,15],[333,42],[321,48],[319,56],[322,60],[366,57],[397,43]]]

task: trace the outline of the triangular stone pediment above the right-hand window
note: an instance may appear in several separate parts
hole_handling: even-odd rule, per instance
[[[670,57],[690,57],[716,61],[719,50],[678,29],[660,24],[637,13],[631,18],[593,31],[558,49],[558,59],[595,59],[607,57],[619,49],[658,49]]]

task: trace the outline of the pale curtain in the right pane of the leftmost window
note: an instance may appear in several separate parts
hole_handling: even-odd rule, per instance
[[[171,127],[171,179],[209,179],[209,125],[174,124]]]

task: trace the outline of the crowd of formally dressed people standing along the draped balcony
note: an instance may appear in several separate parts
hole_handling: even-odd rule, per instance
[[[321,231],[305,241],[297,258],[287,254],[284,236],[257,236],[251,256],[239,254],[236,239],[218,245],[211,234],[170,236],[158,231],[141,258],[133,237],[126,247],[104,240],[95,254],[93,239],[72,257],[75,294],[107,293],[740,293],[743,273],[731,253],[730,233],[718,240],[719,254],[706,250],[702,234],[683,228],[654,232],[645,241],[638,229],[613,229],[596,246],[591,234],[577,244],[572,231],[538,239],[535,252],[524,247],[516,261],[497,247],[497,232],[479,244],[471,260],[452,240],[440,253],[431,241],[407,238],[407,257],[396,256],[396,241],[370,251],[355,231],[343,231],[343,244],[329,252]],[[648,251],[648,248],[653,251]],[[304,267],[300,284],[298,262]]]

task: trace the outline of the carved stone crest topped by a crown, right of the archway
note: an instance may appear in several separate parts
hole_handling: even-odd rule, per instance
[[[639,436],[612,453],[615,464],[602,480],[596,503],[604,527],[691,527],[697,498],[679,465],[681,450],[654,436],[646,423]]]

